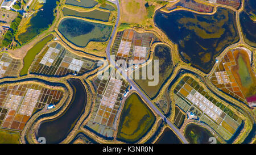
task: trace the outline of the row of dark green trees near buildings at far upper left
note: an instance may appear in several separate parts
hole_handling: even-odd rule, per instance
[[[13,37],[16,35],[18,31],[19,23],[22,20],[22,15],[18,14],[18,16],[11,22],[11,26],[9,30],[6,32],[5,36],[3,37],[2,45],[4,47],[9,47],[11,42],[13,41]]]

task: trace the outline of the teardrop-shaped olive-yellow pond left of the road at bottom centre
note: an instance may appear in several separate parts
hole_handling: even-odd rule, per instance
[[[155,122],[155,115],[138,94],[131,94],[125,102],[118,127],[117,138],[134,143]]]

